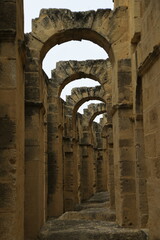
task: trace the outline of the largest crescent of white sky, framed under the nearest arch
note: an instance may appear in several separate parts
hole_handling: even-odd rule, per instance
[[[56,62],[59,61],[82,61],[89,59],[107,59],[106,51],[97,44],[89,41],[69,41],[63,44],[56,45],[51,48],[42,62],[42,68],[51,77],[51,70],[56,68]]]

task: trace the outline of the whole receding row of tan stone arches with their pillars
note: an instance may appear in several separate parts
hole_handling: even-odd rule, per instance
[[[120,16],[123,18],[119,24]],[[110,207],[116,209],[120,225],[136,225],[130,209],[123,211],[123,201],[128,200],[124,189],[126,182],[133,180],[132,172],[124,174],[120,167],[120,151],[125,148],[130,154],[133,150],[129,141],[132,100],[131,63],[125,42],[127,25],[123,24],[126,18],[127,8],[118,8],[114,13],[109,9],[82,13],[42,9],[39,18],[33,20],[32,33],[26,35],[26,236],[35,236],[48,216],[72,210],[99,190],[109,191]],[[57,44],[82,39],[102,47],[109,59],[61,61],[49,79],[42,70],[47,52]],[[123,48],[118,46],[121,42]],[[100,85],[74,88],[63,101],[60,95],[65,86],[81,78],[96,80]],[[103,104],[90,106],[83,115],[77,113],[89,100]],[[100,124],[94,123],[99,113],[106,115]],[[124,123],[125,129],[120,129]],[[127,141],[130,145],[126,147]],[[132,190],[133,211],[136,193]],[[34,227],[31,218],[36,222]]]

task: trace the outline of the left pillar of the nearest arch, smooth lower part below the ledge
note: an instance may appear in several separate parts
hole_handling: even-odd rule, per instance
[[[25,239],[37,236],[45,221],[44,107],[26,103],[25,141]]]

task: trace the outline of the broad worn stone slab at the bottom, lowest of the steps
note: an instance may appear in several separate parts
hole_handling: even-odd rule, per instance
[[[114,223],[86,220],[49,220],[38,240],[147,240],[141,230],[121,228]]]

